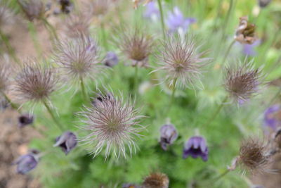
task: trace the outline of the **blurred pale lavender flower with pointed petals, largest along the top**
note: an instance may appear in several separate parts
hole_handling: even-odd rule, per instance
[[[195,18],[184,18],[183,13],[181,13],[178,7],[174,7],[174,11],[169,12],[166,19],[166,25],[169,27],[170,32],[178,32],[181,29],[185,33],[188,30],[188,26],[195,22]]]

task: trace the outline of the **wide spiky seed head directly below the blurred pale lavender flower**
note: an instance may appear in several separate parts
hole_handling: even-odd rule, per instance
[[[162,73],[162,82],[168,82],[169,86],[176,80],[178,87],[200,87],[202,67],[209,58],[203,58],[204,52],[198,51],[199,47],[191,37],[166,39],[156,55],[158,67],[152,72]]]

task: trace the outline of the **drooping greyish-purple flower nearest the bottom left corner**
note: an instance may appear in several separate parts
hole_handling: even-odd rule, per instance
[[[25,175],[30,172],[30,170],[34,169],[38,164],[38,158],[32,153],[20,156],[14,165],[17,166],[17,173],[21,175]]]

